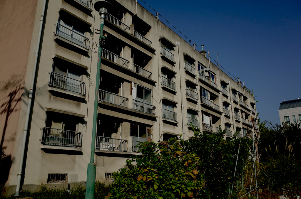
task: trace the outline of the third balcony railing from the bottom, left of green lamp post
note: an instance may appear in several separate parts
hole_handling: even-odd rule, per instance
[[[63,26],[59,23],[56,25],[55,35],[71,41],[81,47],[89,49],[89,39],[84,35],[74,32],[67,26]]]

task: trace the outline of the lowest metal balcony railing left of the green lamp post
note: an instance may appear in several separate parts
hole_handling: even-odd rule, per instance
[[[81,147],[82,133],[72,130],[43,127],[41,143],[43,145]]]

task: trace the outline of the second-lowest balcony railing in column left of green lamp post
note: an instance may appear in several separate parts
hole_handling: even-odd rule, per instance
[[[60,75],[56,72],[50,72],[49,83],[50,86],[68,90],[74,93],[82,95],[86,94],[86,84],[83,81],[79,81],[64,75]]]

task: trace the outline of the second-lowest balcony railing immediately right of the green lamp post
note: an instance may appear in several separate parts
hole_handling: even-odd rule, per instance
[[[99,89],[98,100],[128,108],[129,98]]]

